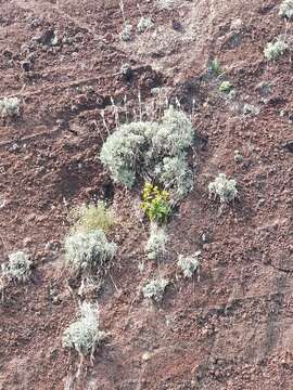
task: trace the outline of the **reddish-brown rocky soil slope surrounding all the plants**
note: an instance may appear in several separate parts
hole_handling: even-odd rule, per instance
[[[125,1],[133,25],[136,3]],[[160,11],[143,1],[155,32],[126,43],[117,0],[0,0],[0,96],[20,96],[23,106],[21,118],[0,123],[0,260],[25,248],[35,264],[31,282],[8,286],[0,304],[1,390],[293,389],[293,170],[292,151],[283,147],[293,139],[292,61],[286,53],[268,64],[263,55],[266,42],[285,31],[276,3],[182,0]],[[238,18],[239,34],[231,29]],[[37,43],[50,28],[67,43]],[[290,37],[292,23],[286,28]],[[35,61],[25,72],[30,53]],[[214,56],[239,92],[231,103],[218,94],[219,81],[205,76]],[[135,69],[131,83],[119,76],[123,63]],[[262,81],[271,83],[267,96],[257,89]],[[148,238],[137,213],[139,190],[115,185],[112,196],[95,156],[106,138],[102,108],[114,130],[110,96],[120,104],[127,95],[138,110],[139,90],[151,106],[151,88],[160,86],[189,113],[195,100],[194,129],[207,143],[194,148],[194,191],[169,225],[162,272],[173,284],[153,306],[140,296],[156,265],[138,271]],[[245,102],[260,114],[244,118]],[[243,162],[234,162],[234,150]],[[207,196],[219,171],[240,190],[221,214]],[[59,249],[68,207],[97,197],[113,197],[117,213],[112,277],[119,292],[105,281],[98,300],[111,338],[75,378],[78,359],[61,339],[78,304],[60,271],[62,250],[46,244]],[[177,278],[177,253],[199,249],[200,278]]]

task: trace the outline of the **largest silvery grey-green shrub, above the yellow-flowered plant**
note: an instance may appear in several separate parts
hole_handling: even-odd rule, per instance
[[[160,122],[120,126],[104,142],[100,159],[115,182],[130,188],[141,172],[148,172],[152,180],[170,191],[174,202],[179,202],[192,188],[187,151],[193,140],[191,120],[170,106]]]

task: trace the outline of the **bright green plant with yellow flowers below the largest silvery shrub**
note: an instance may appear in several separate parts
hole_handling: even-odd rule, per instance
[[[170,212],[169,193],[160,191],[156,185],[145,183],[142,191],[142,209],[145,211],[150,221],[164,223],[167,221]]]

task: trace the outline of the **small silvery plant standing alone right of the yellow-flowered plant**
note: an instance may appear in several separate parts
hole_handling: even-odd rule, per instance
[[[238,196],[237,181],[228,180],[225,173],[219,173],[215,181],[208,184],[209,196],[219,197],[220,203],[230,203]]]

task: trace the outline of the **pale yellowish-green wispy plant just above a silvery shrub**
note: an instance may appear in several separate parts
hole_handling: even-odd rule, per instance
[[[92,230],[107,232],[114,224],[114,216],[106,208],[104,202],[98,202],[97,205],[82,204],[72,209],[69,217],[74,222],[74,232],[90,232]]]

